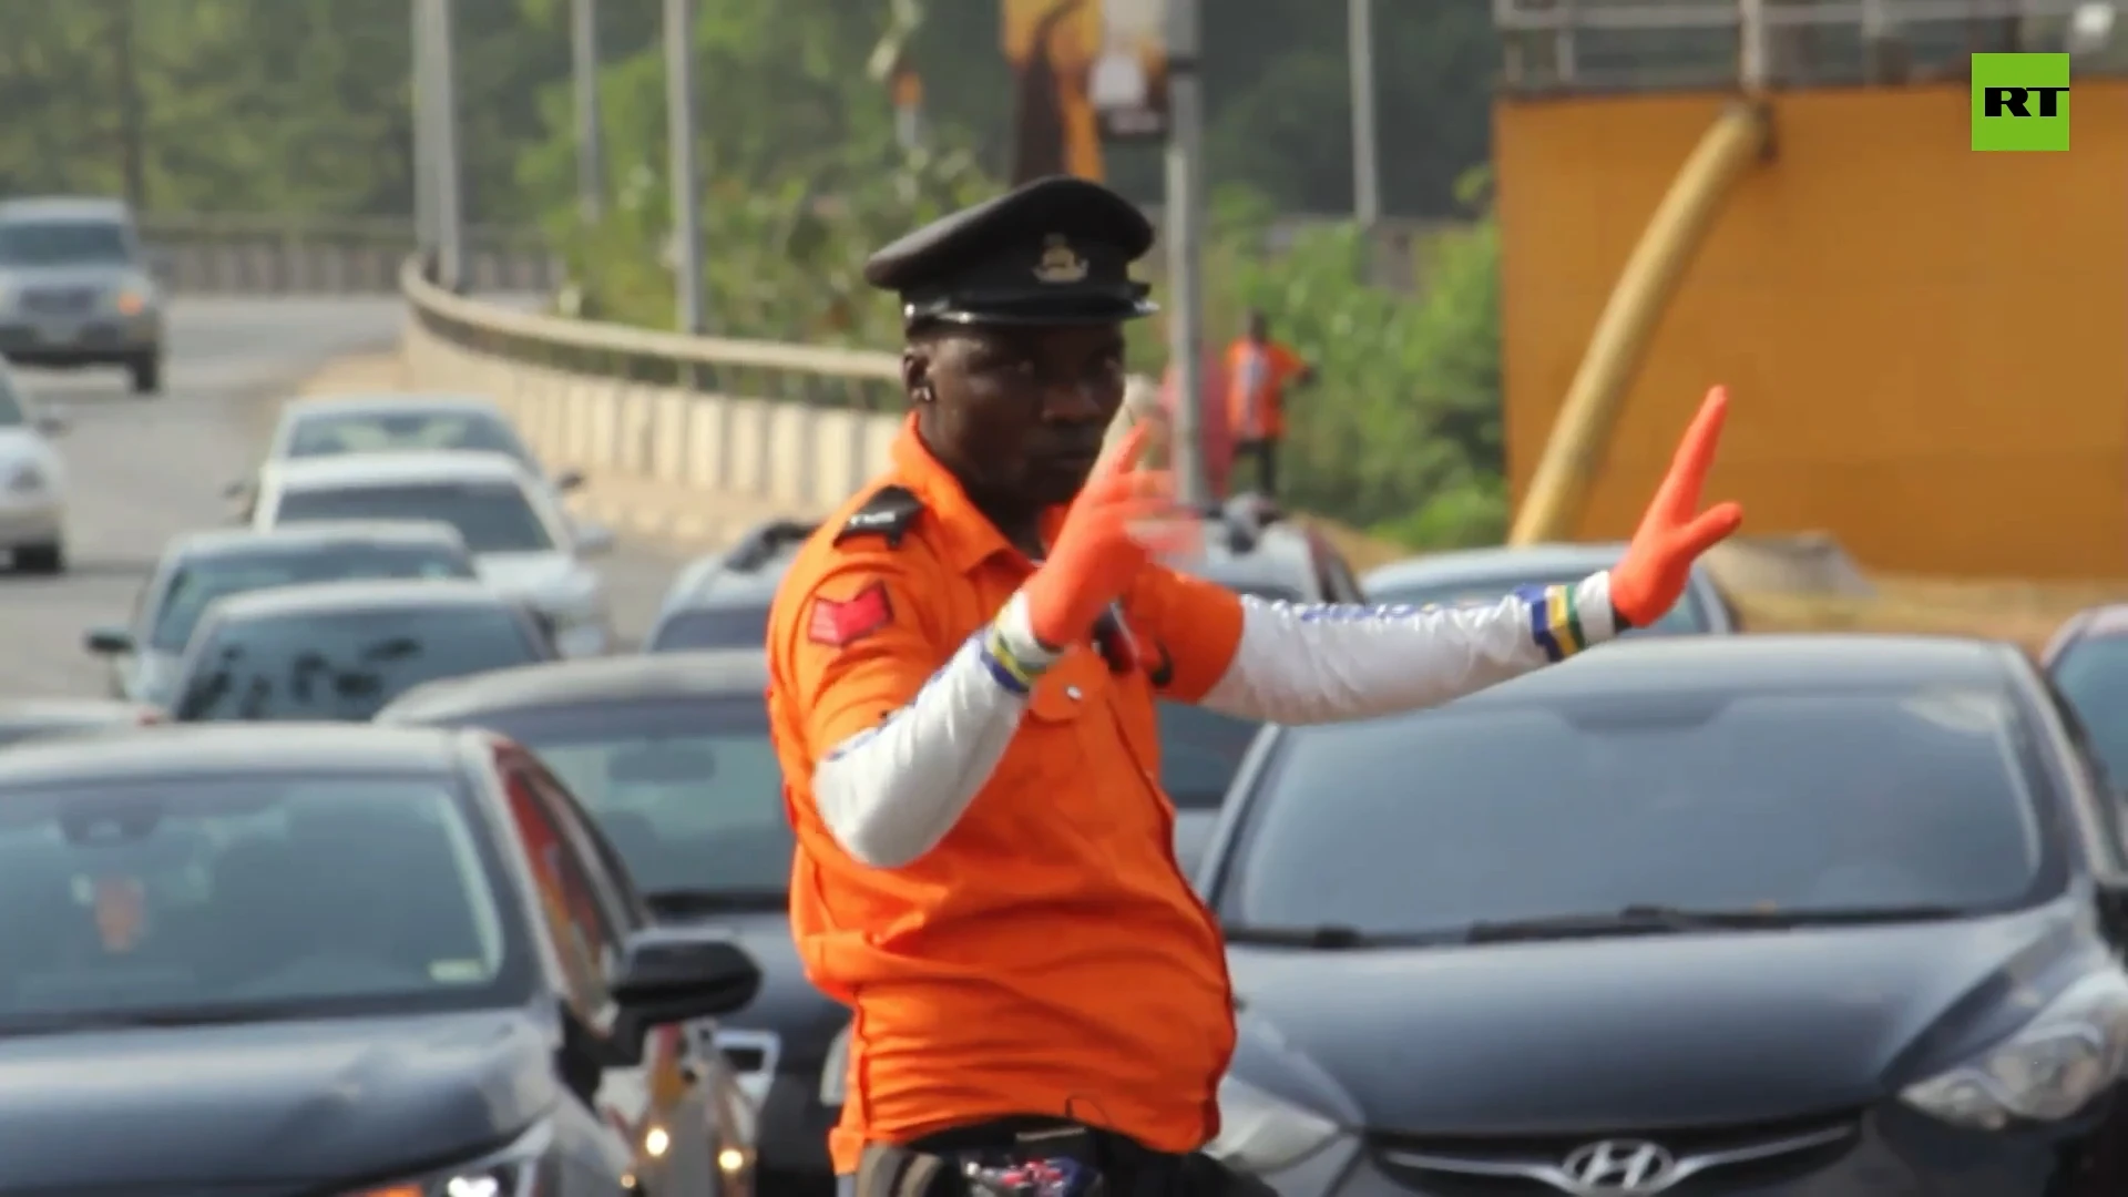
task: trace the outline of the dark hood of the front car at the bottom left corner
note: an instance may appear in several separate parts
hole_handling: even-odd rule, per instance
[[[472,1157],[553,1101],[526,1014],[0,1039],[0,1193],[302,1184]]]

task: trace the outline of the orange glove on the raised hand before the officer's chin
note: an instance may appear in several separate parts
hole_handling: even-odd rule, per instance
[[[1175,505],[1175,475],[1138,469],[1151,434],[1151,424],[1138,424],[1094,466],[1049,558],[1021,588],[1034,639],[1049,647],[1085,639],[1153,554],[1187,535],[1185,513]]]

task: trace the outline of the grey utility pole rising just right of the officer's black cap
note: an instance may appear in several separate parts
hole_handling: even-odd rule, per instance
[[[1168,360],[1175,366],[1175,439],[1168,462],[1181,501],[1211,503],[1204,473],[1204,81],[1198,75],[1198,0],[1168,0]]]

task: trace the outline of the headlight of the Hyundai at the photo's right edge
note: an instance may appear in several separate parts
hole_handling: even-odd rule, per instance
[[[2128,978],[2092,973],[1981,1059],[1909,1084],[1900,1097],[1958,1127],[2056,1122],[2113,1086],[2128,1063]]]

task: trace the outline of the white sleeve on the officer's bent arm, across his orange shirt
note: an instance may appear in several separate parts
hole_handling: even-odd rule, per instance
[[[1032,682],[1051,665],[1015,594],[915,699],[813,767],[813,801],[836,843],[877,869],[936,848],[1004,758]]]

